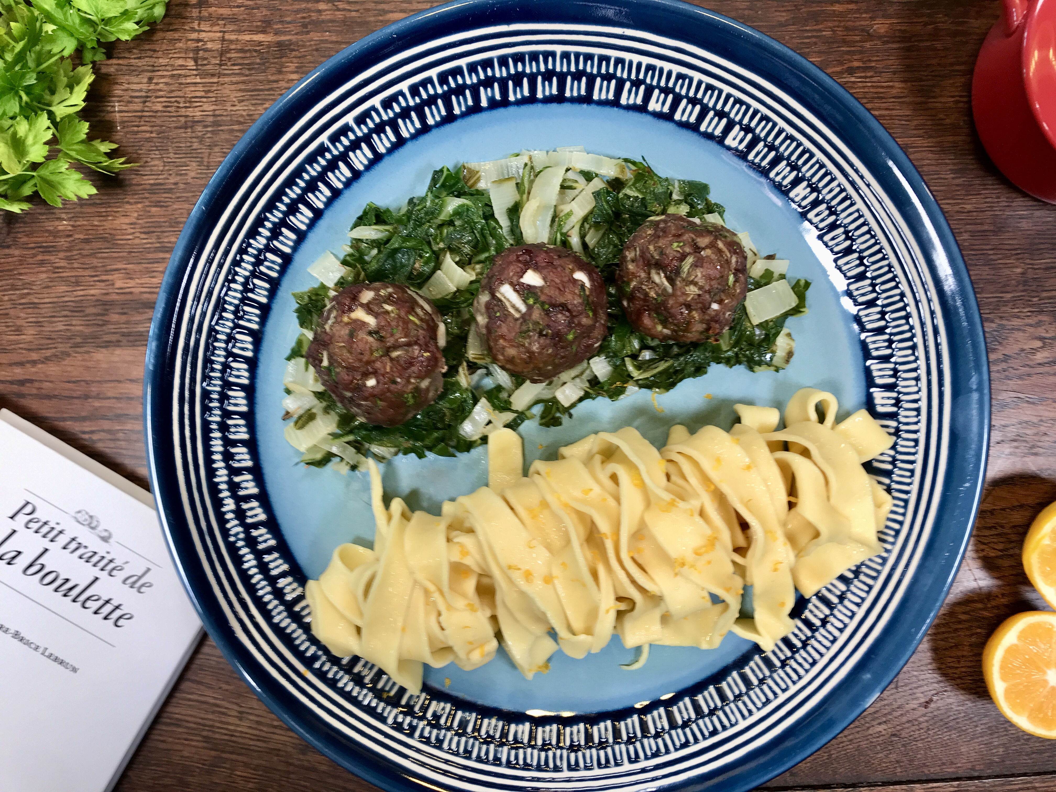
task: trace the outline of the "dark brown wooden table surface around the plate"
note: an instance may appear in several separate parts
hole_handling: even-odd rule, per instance
[[[140,391],[154,299],[195,199],[250,124],[310,69],[428,0],[173,0],[98,65],[88,116],[143,163],[61,210],[0,219],[0,406],[146,485]],[[1056,789],[1056,743],[986,695],[980,654],[1007,616],[1044,607],[1019,549],[1056,501],[1056,206],[1008,184],[973,130],[993,0],[715,0],[798,51],[884,124],[942,205],[986,326],[994,433],[972,546],[939,618],[891,686],[774,790]],[[369,789],[283,725],[206,639],[120,792]]]

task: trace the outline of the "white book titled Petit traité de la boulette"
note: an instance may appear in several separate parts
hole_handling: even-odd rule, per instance
[[[150,493],[0,411],[0,790],[111,789],[201,630]]]

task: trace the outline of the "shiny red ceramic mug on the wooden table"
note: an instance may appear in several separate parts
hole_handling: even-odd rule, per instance
[[[1020,189],[1056,204],[1056,0],[1003,0],[972,78],[976,129]]]

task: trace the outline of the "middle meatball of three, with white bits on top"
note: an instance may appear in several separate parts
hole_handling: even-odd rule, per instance
[[[508,247],[480,282],[473,316],[492,360],[545,382],[598,351],[607,326],[605,284],[571,250]]]

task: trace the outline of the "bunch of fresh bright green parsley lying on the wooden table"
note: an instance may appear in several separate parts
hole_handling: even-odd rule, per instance
[[[77,113],[101,44],[128,41],[165,16],[165,0],[0,0],[0,209],[21,212],[34,193],[53,206],[96,192],[72,167],[114,174],[116,144],[90,140]],[[74,55],[80,65],[74,65]]]

